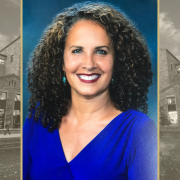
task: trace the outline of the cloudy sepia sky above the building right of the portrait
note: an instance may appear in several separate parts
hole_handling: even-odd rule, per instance
[[[160,48],[180,60],[180,0],[160,0]]]

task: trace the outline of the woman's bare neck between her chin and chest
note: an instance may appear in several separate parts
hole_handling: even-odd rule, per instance
[[[117,111],[111,101],[109,90],[91,98],[72,92],[71,97],[72,102],[67,117],[71,120],[74,119],[75,123],[102,119]]]

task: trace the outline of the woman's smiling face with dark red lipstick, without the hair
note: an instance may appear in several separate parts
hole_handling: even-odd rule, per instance
[[[91,97],[108,91],[113,63],[110,39],[100,25],[81,20],[70,29],[63,70],[72,93]]]

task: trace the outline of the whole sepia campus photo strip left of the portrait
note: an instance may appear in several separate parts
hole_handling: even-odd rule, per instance
[[[0,1],[0,179],[20,180],[21,0]]]

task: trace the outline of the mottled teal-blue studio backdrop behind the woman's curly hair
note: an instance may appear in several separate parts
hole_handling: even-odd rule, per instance
[[[56,14],[81,0],[23,0],[23,121],[28,113],[27,67],[31,53]],[[98,2],[98,1],[93,1]],[[157,124],[157,1],[105,0],[136,25],[147,41],[152,58],[153,85],[148,93],[148,116]]]

